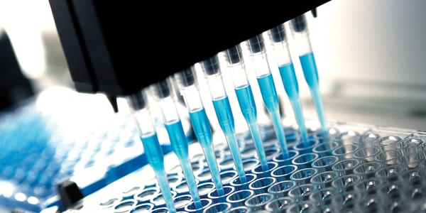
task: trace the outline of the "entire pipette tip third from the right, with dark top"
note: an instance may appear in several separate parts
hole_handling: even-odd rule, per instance
[[[275,89],[268,59],[266,58],[266,50],[262,35],[256,35],[255,37],[250,38],[247,40],[247,45],[249,46],[251,60],[253,61],[253,68],[256,72],[259,88],[261,89],[263,103],[265,104],[273,121],[273,126],[275,133],[277,134],[278,143],[280,143],[281,146],[283,157],[288,158],[287,141],[285,139],[283,123],[281,122],[278,94]]]

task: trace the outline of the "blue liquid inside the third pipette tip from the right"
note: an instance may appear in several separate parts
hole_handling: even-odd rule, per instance
[[[258,77],[259,88],[261,89],[262,99],[265,103],[266,109],[268,109],[271,119],[273,121],[273,127],[277,134],[278,142],[283,152],[283,157],[288,158],[287,141],[285,140],[285,133],[283,124],[281,123],[280,108],[278,103],[278,94],[275,90],[275,84],[273,83],[272,74]]]

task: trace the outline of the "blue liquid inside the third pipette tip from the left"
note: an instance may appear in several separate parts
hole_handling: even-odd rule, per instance
[[[214,148],[212,145],[212,129],[210,128],[206,111],[204,108],[190,111],[190,119],[195,136],[197,136],[197,139],[204,150],[207,163],[209,163],[214,185],[216,185],[217,195],[222,196],[224,195],[224,188],[222,186],[222,180],[220,178],[216,156],[214,155]]]

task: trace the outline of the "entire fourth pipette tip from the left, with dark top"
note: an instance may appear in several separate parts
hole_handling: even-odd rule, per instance
[[[239,144],[236,141],[234,115],[232,114],[231,104],[222,81],[222,74],[219,69],[219,59],[217,55],[201,62],[204,77],[209,85],[210,96],[212,97],[214,111],[216,112],[219,125],[224,132],[226,141],[240,182],[246,182],[244,165],[241,159]]]

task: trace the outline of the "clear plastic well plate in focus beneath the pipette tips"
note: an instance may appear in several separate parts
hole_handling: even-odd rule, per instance
[[[315,157],[316,160],[312,161],[310,165],[302,166],[305,168],[297,168],[296,165],[289,164],[291,161],[288,160],[275,160],[279,159],[276,156],[280,153],[277,153],[268,160],[268,163],[272,163],[270,166],[270,168],[273,168],[272,170],[266,173],[256,173],[255,171],[261,168],[259,161],[253,160],[256,159],[256,155],[243,155],[244,162],[255,164],[247,165],[245,169],[247,182],[239,182],[235,168],[223,168],[221,173],[226,172],[231,176],[229,181],[224,181],[225,195],[218,196],[210,185],[206,189],[210,190],[207,195],[205,193],[200,194],[202,200],[206,200],[202,209],[190,207],[191,202],[187,201],[185,201],[186,206],[183,208],[191,209],[192,212],[229,212],[231,209],[234,209],[233,212],[237,212],[238,209],[251,212],[419,212],[424,207],[426,202],[424,192],[426,187],[425,163],[418,163],[415,167],[409,167],[407,160],[400,160],[400,158],[408,159],[415,154],[425,155],[423,143],[418,143],[418,141],[425,140],[426,133],[424,131],[342,122],[330,124],[329,136],[332,142],[337,143],[338,146],[323,147],[321,150],[330,149],[330,151],[322,153],[321,158]],[[280,144],[277,138],[271,138],[268,135],[271,130],[273,131],[273,126],[263,126],[263,139],[269,144],[268,147],[279,150]],[[291,138],[291,135],[296,132],[297,129],[286,131],[288,138]],[[322,131],[318,126],[312,127],[310,134],[322,138]],[[371,137],[372,135],[374,137]],[[250,136],[249,132],[239,135],[238,138],[243,149],[253,146],[252,140],[244,139],[247,136]],[[388,143],[378,143],[378,141],[386,141],[389,136],[401,138],[399,140],[400,145],[406,148],[405,151],[400,151],[400,154],[389,153],[393,149],[386,148],[389,146]],[[293,151],[293,148],[299,143],[302,142],[290,143],[290,151]],[[324,140],[320,139],[317,146],[310,149],[311,153],[318,155],[314,151],[318,151],[319,149],[316,147],[324,143]],[[222,146],[222,144],[226,145],[226,141],[222,141],[218,146]],[[347,148],[349,144],[356,144],[358,148],[354,149],[350,146]],[[343,154],[346,152],[346,148],[342,149],[343,147],[346,147],[351,154]],[[376,153],[375,148],[365,149],[364,147],[376,147],[380,151]],[[359,152],[355,152],[355,154],[352,152],[354,150]],[[225,156],[231,155],[229,149],[226,148],[220,149],[219,152],[222,152]],[[202,151],[198,153],[202,153]],[[376,154],[373,155],[373,153]],[[196,155],[197,151],[193,154]],[[302,155],[306,155],[306,153]],[[302,155],[295,152],[293,160]],[[225,159],[218,159],[219,164]],[[201,160],[204,163],[200,163],[200,165],[207,168],[205,159],[201,158]],[[165,162],[170,163],[167,159],[165,159]],[[233,173],[227,173],[229,171]],[[143,172],[146,173],[146,170]],[[173,171],[173,173],[175,172]],[[141,175],[142,171],[131,174],[133,180]],[[180,175],[182,175],[181,172]],[[173,177],[175,176],[170,176],[170,178]],[[138,186],[146,191],[158,187],[158,185],[149,187],[144,185],[143,182],[132,182],[129,179],[126,180],[126,178],[94,195],[85,197],[83,207],[79,211],[93,212],[94,209],[103,209],[104,211],[111,209],[112,212],[114,208],[124,207],[124,204],[129,204],[126,207],[126,209],[131,209],[129,211],[142,208],[142,204],[148,204],[144,207],[151,208],[151,210],[164,207],[164,204],[155,205],[150,202],[150,199],[142,199],[143,197],[155,197],[159,190],[145,194],[136,192],[133,196],[126,195],[124,197],[118,189]],[[175,180],[183,181],[178,178],[175,178]],[[199,180],[198,185],[200,187],[206,185],[206,183],[213,183],[208,178]],[[189,194],[188,190],[180,190],[176,192],[174,197]],[[109,199],[115,199],[116,202],[102,205],[102,200],[99,200],[99,197],[106,198],[105,201],[107,200],[105,195]],[[134,200],[138,201],[137,204],[133,202]],[[179,208],[182,207],[179,206]],[[183,212],[190,211],[183,210]]]

